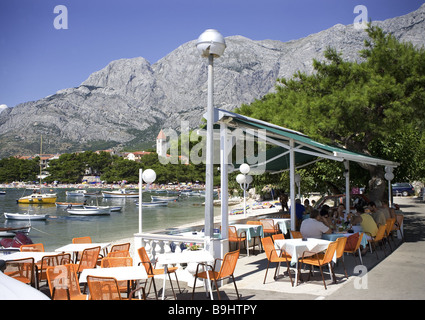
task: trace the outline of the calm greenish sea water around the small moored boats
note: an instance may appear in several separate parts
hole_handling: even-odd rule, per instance
[[[111,212],[106,216],[74,216],[65,209],[55,205],[27,205],[18,204],[24,189],[5,189],[6,195],[0,195],[0,226],[16,227],[26,225],[27,222],[7,220],[4,212],[21,212],[28,210],[33,213],[47,213],[46,221],[32,221],[29,237],[34,243],[43,243],[45,250],[54,250],[71,243],[72,238],[91,236],[93,242],[109,242],[133,237],[139,228],[139,209],[134,200],[138,198],[103,198],[97,197],[99,205],[122,206],[120,212]],[[52,189],[58,195],[58,202],[83,202],[96,205],[94,197],[70,197],[65,192],[71,189]],[[90,189],[99,191],[99,189]],[[27,190],[26,194],[29,194]],[[143,201],[150,201],[150,193],[143,193]],[[167,207],[143,207],[143,232],[166,230],[182,225],[203,221],[205,208],[203,197],[180,197],[179,201],[169,203]],[[220,215],[220,208],[214,208],[214,215]]]

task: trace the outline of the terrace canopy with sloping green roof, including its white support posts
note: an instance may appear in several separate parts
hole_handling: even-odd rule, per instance
[[[282,172],[289,170],[290,174],[290,199],[295,203],[295,169],[307,166],[322,159],[331,159],[344,162],[346,177],[346,207],[349,208],[349,162],[367,163],[395,168],[397,162],[383,160],[369,155],[360,154],[347,149],[319,143],[301,132],[280,127],[265,121],[250,118],[230,111],[215,109],[215,124],[220,125],[220,173],[222,194],[228,193],[228,165],[229,154],[232,151],[234,141],[229,137],[229,132],[240,129],[247,135],[261,139],[266,144],[273,145],[265,151],[265,161],[257,163],[263,166],[267,172]],[[258,159],[258,157],[254,157]],[[240,165],[240,164],[239,164]],[[237,167],[237,165],[235,166]],[[252,165],[256,168],[256,165]],[[226,198],[226,197],[223,197]],[[221,219],[222,238],[227,239],[228,205],[227,199],[222,199]],[[295,229],[295,206],[291,206],[291,228]]]

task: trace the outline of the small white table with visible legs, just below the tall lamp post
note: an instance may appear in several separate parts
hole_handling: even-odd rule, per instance
[[[162,289],[162,300],[165,299],[165,280],[167,278],[167,268],[169,265],[182,263],[209,263],[214,262],[214,257],[206,250],[183,250],[181,253],[164,253],[158,255],[157,263],[164,266],[164,280]],[[213,299],[211,282],[208,276],[208,289],[210,291],[211,300]]]

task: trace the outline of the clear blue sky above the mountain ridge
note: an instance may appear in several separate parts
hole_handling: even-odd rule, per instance
[[[357,5],[372,20],[425,0],[0,0],[0,105],[13,107],[64,88],[121,58],[155,63],[209,28],[225,37],[288,41],[352,24]],[[68,29],[56,29],[64,5]],[[60,22],[64,22],[61,20]]]

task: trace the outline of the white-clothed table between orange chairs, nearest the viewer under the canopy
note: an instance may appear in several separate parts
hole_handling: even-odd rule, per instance
[[[325,251],[332,241],[308,238],[306,241],[303,239],[285,239],[275,240],[274,245],[276,249],[285,250],[291,255],[291,263],[296,265],[297,273],[295,275],[295,285],[298,284],[298,259],[303,256],[304,251],[309,251],[309,255]],[[334,256],[335,259],[335,256]]]

